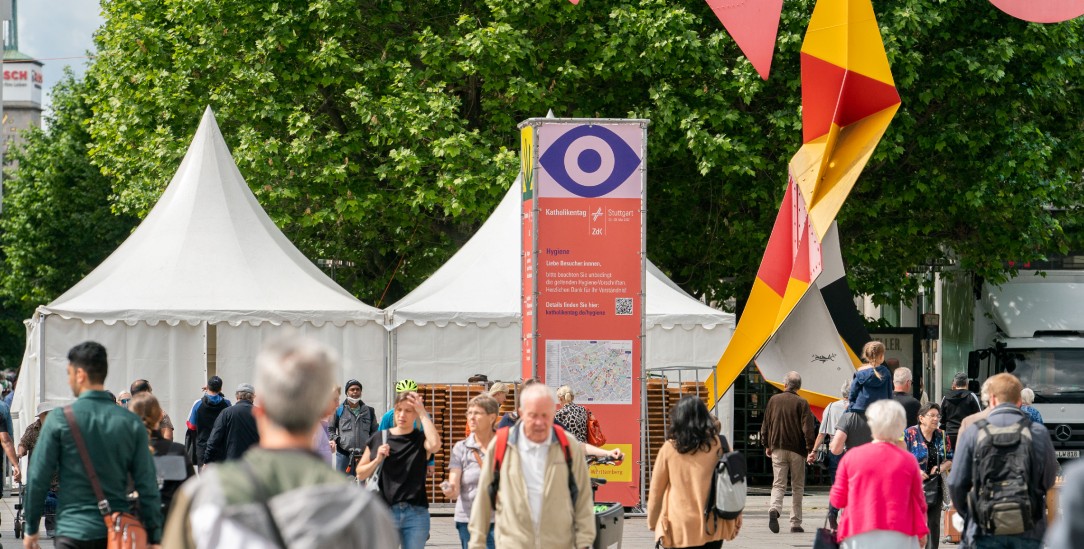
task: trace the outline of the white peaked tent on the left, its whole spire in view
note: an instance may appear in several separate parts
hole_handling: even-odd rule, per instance
[[[382,312],[343,290],[271,221],[241,177],[208,108],[154,209],[93,272],[27,321],[14,407],[72,399],[67,352],[105,345],[106,387],[146,379],[183,429],[209,371],[223,392],[253,382],[263,341],[293,327],[338,350],[384,408],[387,333]],[[331,397],[331,395],[328,395]]]

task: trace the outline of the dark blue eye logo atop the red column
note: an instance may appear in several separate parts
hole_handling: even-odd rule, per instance
[[[539,164],[557,184],[577,196],[594,199],[621,186],[640,156],[617,133],[603,126],[578,126],[557,138]]]

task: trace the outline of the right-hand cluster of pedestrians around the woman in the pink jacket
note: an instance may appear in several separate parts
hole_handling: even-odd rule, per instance
[[[862,358],[841,387],[843,398],[824,409],[815,437],[797,372],[769,400],[761,443],[775,478],[771,532],[779,532],[788,481],[790,531],[804,532],[803,465],[821,461],[820,448],[827,444],[825,529],[843,548],[937,549],[945,514],[962,531],[962,547],[1038,549],[1044,538],[1047,547],[1074,547],[1066,534],[1073,521],[1062,519],[1047,533],[1046,495],[1058,462],[1042,417],[1029,406],[1034,394],[1019,379],[992,375],[980,397],[967,388],[967,374],[958,373],[938,404],[915,397],[911,370],[890,370],[880,342],[866,344]],[[796,454],[805,458],[800,465]],[[1067,475],[1067,502],[1081,501],[1084,474],[1080,478]]]

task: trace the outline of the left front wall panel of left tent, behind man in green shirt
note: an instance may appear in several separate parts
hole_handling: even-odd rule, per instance
[[[49,315],[44,317],[43,323],[39,323],[38,329],[41,330],[43,346],[38,362],[40,371],[28,372],[27,367],[29,370],[39,370],[38,365],[24,362],[20,378],[22,383],[24,374],[29,373],[27,380],[33,380],[37,374],[39,394],[38,398],[20,400],[23,406],[31,403],[36,405],[38,401],[57,405],[73,401],[75,398],[67,380],[67,354],[75,345],[92,340],[104,345],[108,355],[109,373],[105,378],[105,388],[117,394],[127,391],[129,384],[137,379],[150,381],[162,408],[169,413],[173,426],[181,431],[183,437],[189,408],[199,395],[199,387],[207,381],[203,324],[107,324]],[[34,411],[26,411],[33,417]],[[26,411],[20,410],[21,419]]]

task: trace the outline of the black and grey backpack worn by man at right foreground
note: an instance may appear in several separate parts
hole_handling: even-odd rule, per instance
[[[1035,526],[1042,512],[1031,478],[1031,420],[997,426],[983,419],[978,427],[972,457],[973,478],[968,503],[980,532],[1014,536]]]

